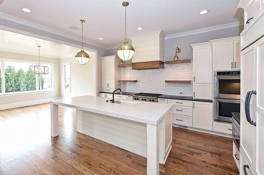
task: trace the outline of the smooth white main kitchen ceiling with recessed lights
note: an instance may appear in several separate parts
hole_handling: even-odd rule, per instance
[[[121,44],[124,39],[123,0],[0,0],[0,12],[42,25],[67,35],[80,37],[84,19],[84,38],[106,47]],[[2,4],[1,4],[2,2]],[[129,0],[127,35],[156,30],[166,35],[243,21],[239,0]],[[22,7],[32,12],[25,13]],[[202,10],[209,10],[199,15]],[[137,30],[143,27],[143,30]],[[104,40],[98,40],[99,37]]]

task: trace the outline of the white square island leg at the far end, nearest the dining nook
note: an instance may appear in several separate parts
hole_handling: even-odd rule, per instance
[[[50,135],[59,135],[59,105],[50,103]]]

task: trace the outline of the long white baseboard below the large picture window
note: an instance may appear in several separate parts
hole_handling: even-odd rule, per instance
[[[9,109],[9,108],[24,107],[24,106],[34,105],[34,104],[48,103],[51,100],[57,100],[57,99],[61,99],[61,97],[51,98],[51,99],[33,100],[33,101],[24,101],[24,102],[19,102],[19,103],[2,104],[2,105],[0,105],[0,110]]]

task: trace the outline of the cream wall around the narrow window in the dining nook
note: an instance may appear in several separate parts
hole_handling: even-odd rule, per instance
[[[77,97],[96,95],[96,53],[89,54],[88,64],[79,65],[74,57],[60,59],[60,90],[61,97]],[[63,63],[71,63],[71,92],[63,90]]]

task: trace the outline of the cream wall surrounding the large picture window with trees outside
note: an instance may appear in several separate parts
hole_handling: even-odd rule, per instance
[[[39,60],[38,56],[11,53],[11,52],[3,52],[3,51],[0,51],[0,58],[27,60],[27,61],[36,61],[36,62]],[[40,57],[40,61],[53,63],[53,74],[54,75],[53,75],[53,85],[52,86],[54,90],[50,92],[38,92],[34,94],[24,93],[24,94],[16,94],[16,95],[10,94],[10,95],[0,96],[0,109],[2,107],[6,108],[7,104],[14,104],[14,105],[11,105],[11,107],[16,107],[19,103],[21,103],[23,106],[23,102],[36,101],[36,100],[43,102],[44,99],[52,99],[52,98],[60,97],[60,88],[59,88],[60,87],[59,85],[59,78],[60,78],[59,77],[59,73],[60,73],[59,72],[59,69],[60,69],[59,62],[60,61],[59,59]]]

